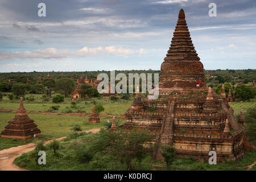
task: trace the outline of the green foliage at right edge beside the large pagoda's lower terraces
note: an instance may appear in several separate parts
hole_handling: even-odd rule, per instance
[[[256,144],[256,107],[250,108],[245,113],[246,121],[246,136],[249,137],[249,141]]]

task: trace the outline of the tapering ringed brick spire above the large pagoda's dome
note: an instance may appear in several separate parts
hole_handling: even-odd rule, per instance
[[[171,47],[164,60],[200,60],[197,56],[195,47],[193,46],[183,9],[180,9],[179,19],[177,20]]]

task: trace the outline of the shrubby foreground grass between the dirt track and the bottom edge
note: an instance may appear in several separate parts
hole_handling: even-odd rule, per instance
[[[97,134],[86,134],[76,139],[66,138],[60,142],[60,150],[58,155],[54,155],[53,151],[47,147],[46,165],[38,165],[37,156],[34,151],[23,154],[16,158],[14,163],[19,167],[30,170],[120,170],[119,163],[111,156],[96,154],[90,162],[80,163],[76,159],[77,143],[90,142]],[[255,152],[246,152],[246,155],[236,161],[228,161],[226,163],[218,163],[210,165],[208,162],[200,162],[195,159],[179,159],[175,158],[171,165],[171,171],[244,171],[251,163],[256,160]],[[125,164],[124,164],[125,165]],[[124,166],[125,169],[125,166]],[[146,156],[141,164],[138,164],[135,170],[167,170],[166,164],[162,161],[151,162],[151,156]],[[255,170],[255,168],[251,169]]]

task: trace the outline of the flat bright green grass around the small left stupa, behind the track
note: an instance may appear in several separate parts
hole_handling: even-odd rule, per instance
[[[15,113],[0,113],[0,131],[5,129],[8,121],[15,117]],[[68,116],[68,115],[48,115],[48,114],[28,114],[28,117],[33,119],[41,130],[41,138],[57,138],[64,137],[71,134],[71,127],[74,124],[80,125],[82,130],[89,130],[94,128],[104,127],[104,123],[112,121],[112,118],[100,118],[100,123],[88,123],[88,117]],[[116,121],[124,122],[123,119],[116,119]],[[32,142],[32,139],[16,140],[0,138],[0,150],[27,144]]]

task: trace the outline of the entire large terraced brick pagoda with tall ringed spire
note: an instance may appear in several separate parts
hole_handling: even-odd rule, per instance
[[[174,146],[180,158],[208,160],[209,151],[216,151],[217,162],[238,159],[245,151],[243,130],[226,96],[219,99],[205,83],[204,67],[193,47],[183,9],[161,65],[159,98],[141,102],[137,94],[125,117],[124,129],[139,127],[155,135],[152,159],[163,160],[160,146],[166,144]]]

